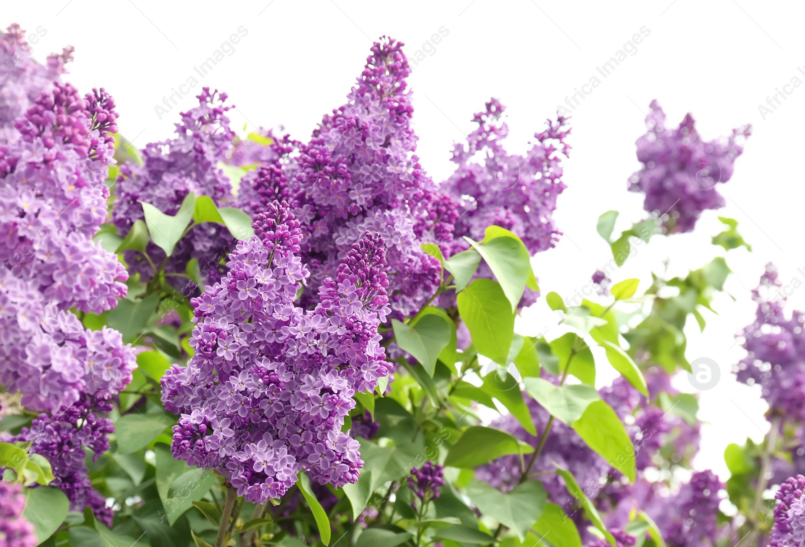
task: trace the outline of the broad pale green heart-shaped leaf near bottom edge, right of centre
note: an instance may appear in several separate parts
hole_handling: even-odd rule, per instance
[[[547,493],[543,483],[527,481],[504,494],[489,483],[473,480],[467,487],[467,496],[485,516],[491,516],[514,530],[520,541],[543,512]]]

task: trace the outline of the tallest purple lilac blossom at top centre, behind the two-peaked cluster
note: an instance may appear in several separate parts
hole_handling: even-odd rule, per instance
[[[458,216],[415,155],[406,81],[411,67],[402,47],[385,37],[374,43],[348,102],[325,115],[310,142],[300,146],[298,166],[288,178],[312,286],[333,274],[364,232],[378,232],[398,319],[419,310],[436,291],[439,261],[420,244],[451,241]],[[306,295],[303,302],[313,306],[315,298]]]

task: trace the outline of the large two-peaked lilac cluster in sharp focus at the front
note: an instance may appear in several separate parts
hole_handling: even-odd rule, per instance
[[[352,245],[306,312],[294,305],[308,278],[299,220],[275,201],[253,226],[221,282],[192,299],[196,353],[162,385],[165,408],[181,413],[175,457],[262,503],[283,496],[300,470],[336,487],[357,481],[359,445],[341,427],[353,395],[390,372],[378,335],[390,310],[381,236]]]

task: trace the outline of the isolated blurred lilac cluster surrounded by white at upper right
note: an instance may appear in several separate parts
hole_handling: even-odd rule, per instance
[[[724,206],[716,184],[732,178],[735,159],[743,152],[738,141],[751,134],[751,125],[729,137],[703,141],[690,114],[670,129],[657,101],[651,101],[650,109],[648,131],[637,141],[643,167],[630,177],[629,190],[646,195],[643,208],[663,216],[667,233],[690,232],[701,212]]]

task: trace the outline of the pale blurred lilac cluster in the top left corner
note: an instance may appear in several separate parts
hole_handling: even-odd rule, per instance
[[[72,47],[47,56],[39,64],[31,56],[31,45],[17,23],[0,32],[0,143],[14,140],[14,120],[22,116],[43,92],[50,92],[53,82],[64,74],[64,65],[72,60]]]

